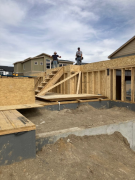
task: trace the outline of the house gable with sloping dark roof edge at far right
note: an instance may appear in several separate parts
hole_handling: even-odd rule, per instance
[[[129,39],[125,44],[120,48],[114,51],[111,55],[108,56],[109,59],[116,59],[126,56],[135,55],[135,36]]]

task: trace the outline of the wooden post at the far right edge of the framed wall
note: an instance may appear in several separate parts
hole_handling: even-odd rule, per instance
[[[135,101],[135,68],[131,68],[131,101]]]

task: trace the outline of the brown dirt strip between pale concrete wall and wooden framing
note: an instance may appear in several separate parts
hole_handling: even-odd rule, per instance
[[[126,108],[95,109],[88,104],[83,104],[75,110],[26,109],[20,112],[36,124],[37,134],[73,127],[89,128],[135,119],[135,112]]]

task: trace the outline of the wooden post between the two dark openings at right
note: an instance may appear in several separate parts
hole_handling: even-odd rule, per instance
[[[121,69],[121,101],[125,101],[125,69]]]

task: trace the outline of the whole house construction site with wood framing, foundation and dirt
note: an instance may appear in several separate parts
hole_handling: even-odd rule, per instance
[[[135,55],[0,77],[1,180],[134,180],[134,169]]]

